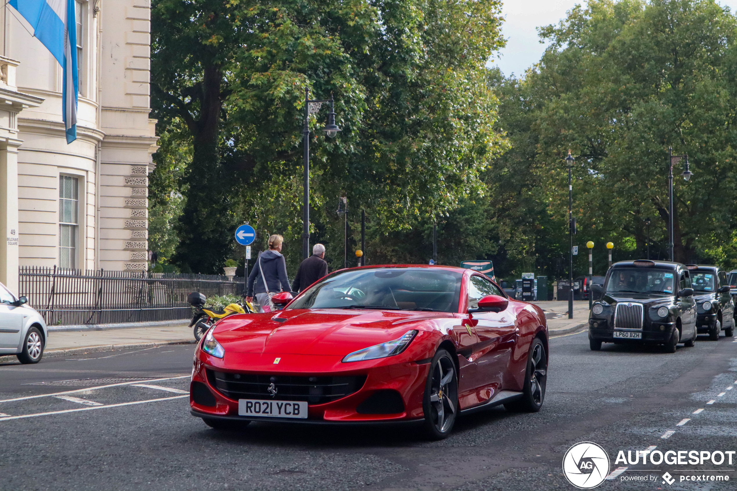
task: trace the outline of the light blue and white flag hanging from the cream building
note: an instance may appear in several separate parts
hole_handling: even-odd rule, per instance
[[[61,117],[66,143],[77,139],[77,16],[75,0],[10,0],[31,24],[35,38],[46,46],[63,69]]]

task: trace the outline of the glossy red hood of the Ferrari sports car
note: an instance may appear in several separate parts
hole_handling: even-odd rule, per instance
[[[411,329],[436,328],[442,319],[453,317],[445,312],[293,309],[226,317],[217,323],[213,336],[226,353],[345,356]]]

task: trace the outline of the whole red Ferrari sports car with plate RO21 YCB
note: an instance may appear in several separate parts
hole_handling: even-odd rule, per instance
[[[281,311],[217,322],[195,351],[190,410],[250,421],[424,423],[503,404],[539,411],[548,328],[537,305],[450,266],[364,266],[326,276]]]

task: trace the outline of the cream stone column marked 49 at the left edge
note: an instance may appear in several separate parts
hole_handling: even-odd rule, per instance
[[[18,294],[18,146],[23,141],[0,141],[0,281]]]

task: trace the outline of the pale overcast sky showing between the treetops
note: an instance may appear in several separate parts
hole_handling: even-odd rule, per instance
[[[537,63],[545,45],[539,43],[536,27],[556,24],[565,17],[567,10],[583,1],[575,0],[506,0],[503,15],[506,21],[502,34],[507,39],[506,48],[493,64],[498,65],[505,75],[523,75],[525,69]],[[737,0],[722,0],[720,4],[737,10]]]

